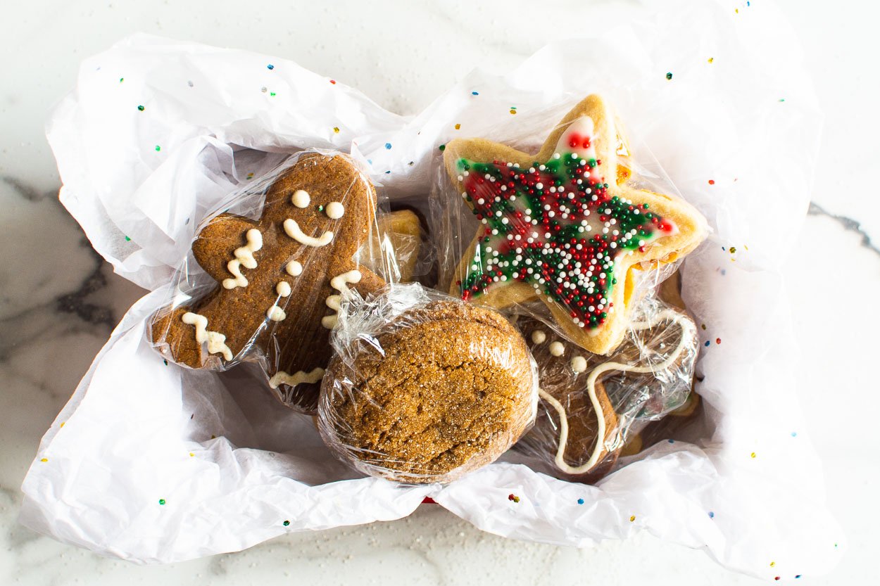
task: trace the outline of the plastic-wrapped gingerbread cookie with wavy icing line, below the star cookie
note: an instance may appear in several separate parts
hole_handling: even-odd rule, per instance
[[[595,482],[612,470],[631,434],[693,404],[698,340],[684,311],[647,298],[610,356],[586,352],[548,323],[549,315],[517,319],[541,381],[538,419],[517,450],[546,472]]]

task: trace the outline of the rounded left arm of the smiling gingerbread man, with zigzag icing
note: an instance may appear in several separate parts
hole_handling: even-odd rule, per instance
[[[253,253],[262,247],[262,235],[248,234],[251,230],[257,230],[257,223],[241,216],[221,214],[212,218],[193,242],[195,261],[216,282],[246,280],[242,269],[256,267]]]

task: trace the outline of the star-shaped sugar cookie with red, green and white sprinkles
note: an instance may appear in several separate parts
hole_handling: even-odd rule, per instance
[[[481,223],[451,292],[495,307],[539,298],[568,338],[611,352],[635,271],[681,258],[707,233],[685,201],[636,187],[629,156],[596,95],[534,155],[480,138],[448,143],[446,171]]]

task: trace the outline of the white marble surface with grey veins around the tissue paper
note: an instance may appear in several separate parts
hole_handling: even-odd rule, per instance
[[[244,553],[158,568],[106,560],[15,523],[18,487],[37,443],[92,356],[141,289],[112,275],[56,200],[59,179],[43,136],[51,105],[74,84],[78,62],[136,31],[282,55],[363,90],[382,106],[416,112],[477,61],[506,69],[546,40],[576,34],[576,18],[536,25],[529,4],[281,2],[187,4],[18,3],[6,11],[0,55],[0,583],[167,584],[605,583],[747,584],[699,551],[645,534],[576,550],[480,533],[436,506],[407,519],[279,538]],[[576,14],[577,1],[561,2]],[[743,5],[745,3],[742,3]],[[862,3],[781,3],[805,43],[825,108],[825,165],[817,206],[797,238],[787,278],[803,341],[803,411],[825,459],[828,498],[850,551],[835,574],[808,584],[867,583],[880,513],[869,368],[880,287],[880,221],[870,173],[878,148],[880,55],[876,14]],[[744,6],[745,9],[745,6]],[[874,9],[876,10],[876,9]],[[825,211],[822,211],[825,210]],[[827,212],[827,213],[825,213]],[[863,223],[860,231],[857,223]],[[818,278],[833,270],[837,279]],[[838,283],[842,283],[842,286]],[[823,316],[817,319],[817,315]],[[826,321],[831,317],[830,321]],[[819,472],[819,471],[817,471]],[[634,563],[637,560],[637,563]]]

